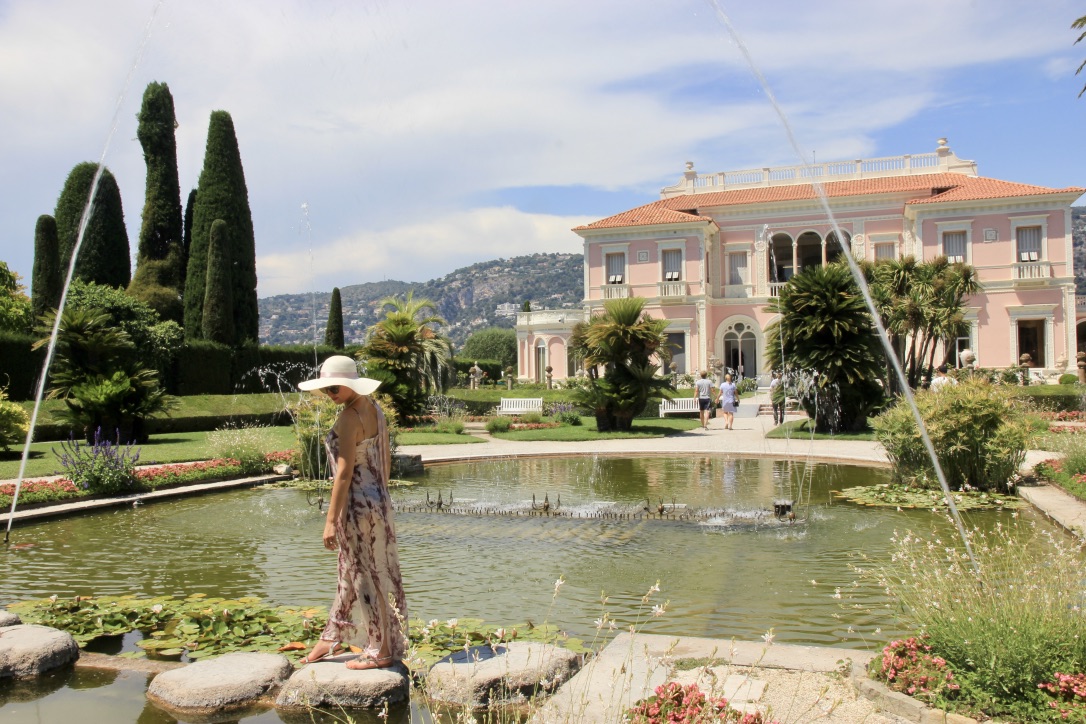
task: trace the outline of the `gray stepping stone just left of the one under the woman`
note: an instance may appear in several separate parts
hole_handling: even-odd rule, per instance
[[[147,697],[187,714],[242,709],[278,688],[293,670],[277,653],[226,653],[159,674]]]

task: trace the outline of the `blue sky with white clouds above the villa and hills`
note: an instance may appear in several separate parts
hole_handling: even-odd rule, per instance
[[[1078,2],[719,7],[808,158],[947,137],[984,176],[1086,186]],[[182,196],[211,111],[231,113],[261,296],[579,252],[571,227],[653,201],[687,161],[797,163],[711,0],[0,0],[0,259],[27,282],[38,215],[114,117],[135,251],[151,80],[174,94]]]

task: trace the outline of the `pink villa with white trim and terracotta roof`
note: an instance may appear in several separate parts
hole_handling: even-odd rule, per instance
[[[812,180],[841,229],[834,232]],[[871,261],[946,255],[975,267],[983,292],[969,301],[969,348],[982,367],[1028,354],[1035,376],[1074,371],[1076,333],[1071,204],[1086,189],[1050,189],[977,176],[939,139],[934,153],[698,174],[660,199],[573,231],[584,244],[580,310],[517,316],[518,376],[578,372],[572,326],[606,300],[645,297],[668,320],[678,372],[717,366],[765,382],[766,310],[793,274],[842,254]]]

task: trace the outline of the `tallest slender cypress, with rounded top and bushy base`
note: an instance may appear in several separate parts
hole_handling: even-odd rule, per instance
[[[148,85],[137,130],[147,163],[147,191],[136,276],[128,293],[147,302],[163,318],[180,321],[182,277],[179,269],[184,250],[176,127],[169,88],[164,82]]]

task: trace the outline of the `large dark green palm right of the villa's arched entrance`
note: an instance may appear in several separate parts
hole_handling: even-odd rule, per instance
[[[781,288],[768,312],[766,357],[807,381],[800,398],[820,432],[859,430],[881,406],[884,356],[859,288],[844,264],[807,269]]]

